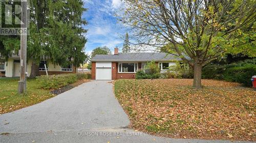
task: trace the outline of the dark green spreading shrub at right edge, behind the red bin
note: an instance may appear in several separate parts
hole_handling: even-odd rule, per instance
[[[224,72],[224,80],[243,83],[247,87],[252,86],[251,77],[256,74],[255,65],[232,67]]]

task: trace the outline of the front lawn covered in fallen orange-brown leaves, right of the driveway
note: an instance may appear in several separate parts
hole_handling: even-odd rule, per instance
[[[193,79],[115,81],[115,94],[140,131],[174,138],[256,140],[256,91],[239,83]]]

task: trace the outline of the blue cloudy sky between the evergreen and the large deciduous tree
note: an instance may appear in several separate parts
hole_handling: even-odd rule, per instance
[[[107,46],[114,51],[117,46],[122,48],[125,28],[118,23],[115,12],[123,5],[121,0],[83,0],[84,12],[82,18],[88,21],[84,28],[88,29],[86,38],[86,53],[91,54],[96,47]]]

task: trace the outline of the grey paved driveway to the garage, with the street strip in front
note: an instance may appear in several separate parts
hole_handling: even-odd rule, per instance
[[[0,115],[0,133],[7,134],[0,135],[0,142],[233,142],[150,136],[127,129],[129,124],[112,83],[91,81]]]

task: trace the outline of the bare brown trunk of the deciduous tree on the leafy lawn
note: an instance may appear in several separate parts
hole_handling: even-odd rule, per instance
[[[202,65],[195,64],[194,65],[194,83],[193,87],[196,89],[202,89]]]

